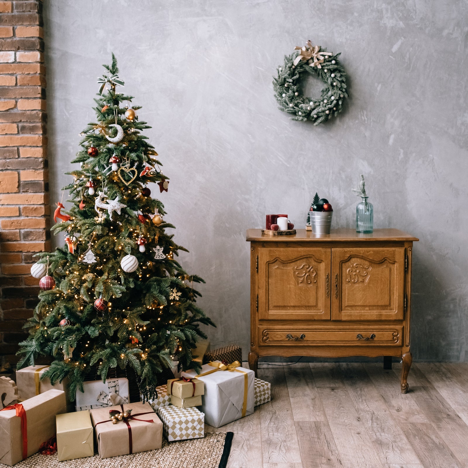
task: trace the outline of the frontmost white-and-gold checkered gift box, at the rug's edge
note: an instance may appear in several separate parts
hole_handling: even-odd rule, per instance
[[[162,433],[169,442],[205,437],[205,414],[197,408],[160,406],[158,415],[162,421]]]

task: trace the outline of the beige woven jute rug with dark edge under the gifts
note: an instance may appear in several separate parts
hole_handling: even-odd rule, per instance
[[[36,453],[15,468],[226,468],[233,432],[209,432],[203,439],[162,441],[160,450],[101,459],[99,455],[59,461],[57,453]],[[0,468],[9,468],[0,463]]]

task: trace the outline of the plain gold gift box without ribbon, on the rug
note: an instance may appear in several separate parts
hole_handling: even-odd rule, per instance
[[[55,424],[59,461],[94,455],[94,432],[88,410],[58,414]]]

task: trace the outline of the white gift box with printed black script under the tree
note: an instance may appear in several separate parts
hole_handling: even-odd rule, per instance
[[[76,410],[103,408],[129,402],[128,380],[107,379],[83,382],[84,393],[76,391]]]

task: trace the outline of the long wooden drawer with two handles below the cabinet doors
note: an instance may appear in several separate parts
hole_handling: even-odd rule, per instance
[[[326,345],[326,346],[402,346],[403,327],[382,326],[382,327],[259,327],[260,346],[268,345]]]

